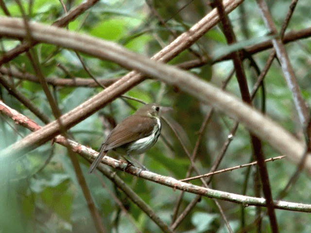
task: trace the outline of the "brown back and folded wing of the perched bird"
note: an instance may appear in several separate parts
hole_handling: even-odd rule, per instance
[[[104,143],[104,150],[120,147],[152,133],[157,124],[156,119],[134,116],[128,116],[110,132]]]

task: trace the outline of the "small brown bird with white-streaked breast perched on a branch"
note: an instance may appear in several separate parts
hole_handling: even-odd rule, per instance
[[[100,147],[97,158],[89,167],[88,173],[94,171],[103,160],[108,150],[115,150],[128,157],[144,153],[155,145],[160,132],[160,106],[156,103],[145,104],[133,115],[123,119],[108,134],[106,140]],[[128,159],[126,159],[126,161],[129,166],[133,166]]]

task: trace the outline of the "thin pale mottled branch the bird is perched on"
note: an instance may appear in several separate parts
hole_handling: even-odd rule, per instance
[[[29,127],[30,130],[32,129],[39,129],[40,126],[36,125],[34,126],[35,122],[28,119],[26,116],[23,116],[22,114],[18,113],[16,110],[11,109],[7,105],[5,105],[3,102],[0,101],[0,112],[11,117],[16,123],[23,125],[24,127],[28,128],[28,121],[31,122],[31,127]],[[40,131],[40,130],[37,130]],[[55,137],[54,142],[70,147],[74,152],[82,155],[85,159],[88,161],[92,161],[95,159],[98,155],[98,152],[95,150],[92,150],[86,146],[80,145],[77,142],[73,140],[66,139],[65,137],[58,135]],[[69,143],[69,145],[68,145]],[[124,168],[127,167],[127,163],[123,163],[121,161],[115,160],[113,158],[110,158],[108,156],[105,156],[103,161],[103,164],[114,167],[118,170],[124,171]],[[100,166],[101,169],[105,169],[105,166]],[[140,168],[137,168],[135,166],[130,166],[125,170],[127,173],[131,175],[138,176],[140,178],[143,178],[145,180],[149,180],[155,183],[159,183],[162,185],[166,185],[168,187],[173,188],[173,190],[178,189],[182,191],[186,191],[189,193],[197,194],[200,196],[205,196],[208,198],[215,198],[220,200],[227,200],[230,202],[240,203],[244,206],[249,205],[255,205],[255,206],[263,206],[265,207],[265,199],[264,198],[254,198],[249,196],[243,196],[238,194],[232,194],[228,192],[213,190],[210,188],[204,188],[197,185],[193,185],[190,183],[184,183],[181,181],[178,181],[172,177],[162,176],[150,171],[141,171]],[[113,176],[117,176],[114,172],[110,172],[110,176],[113,178]],[[124,185],[124,183],[123,183]],[[139,197],[138,197],[139,198]],[[300,211],[300,212],[308,212],[311,213],[311,204],[302,204],[302,203],[295,203],[295,202],[288,202],[288,201],[274,201],[274,205],[276,209],[281,210],[291,210],[291,211]]]

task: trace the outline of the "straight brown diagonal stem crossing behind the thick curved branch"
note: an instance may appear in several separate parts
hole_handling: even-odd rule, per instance
[[[241,3],[242,3],[242,0],[226,0],[224,2],[226,12],[227,13],[231,12]],[[5,18],[3,19],[5,20]],[[219,22],[219,17],[217,15],[217,11],[212,10],[210,13],[207,14],[206,17],[202,18],[198,23],[196,23],[192,28],[190,28],[189,31],[182,33],[170,45],[168,45],[166,48],[156,53],[153,59],[155,60],[162,59],[166,61],[172,59],[178,53],[189,48],[196,40],[198,40],[202,35],[204,35],[204,33],[206,33],[209,29],[214,27],[218,22]],[[4,21],[1,21],[1,23],[4,23]],[[16,25],[16,24],[13,22],[13,25]],[[24,24],[20,24],[20,25],[24,25]],[[23,26],[21,26],[21,28],[22,27]],[[12,29],[14,28],[15,27],[13,27]],[[10,30],[10,31],[12,32],[14,30]],[[50,30],[46,29],[46,31],[48,32]],[[44,33],[45,33],[45,30],[43,28],[43,32],[41,34],[44,34]],[[66,31],[66,34],[67,33],[69,32]],[[66,37],[67,35],[63,36],[63,38],[66,38]],[[69,41],[67,41],[67,43],[70,44]],[[81,45],[83,47],[87,45],[87,43],[82,42]],[[114,45],[114,44],[110,43],[110,45]],[[97,50],[97,48],[94,48],[94,49]],[[78,108],[75,108],[73,111],[70,111],[68,114],[65,114],[62,117],[64,126],[70,128],[71,126],[77,124],[81,120],[85,119],[87,116],[90,116],[91,114],[93,114],[94,112],[96,112],[97,110],[105,106],[110,101],[122,95],[124,92],[126,92],[130,88],[142,82],[143,79],[144,79],[143,75],[139,74],[137,71],[132,71],[128,73],[119,82],[115,83],[115,85],[112,85],[110,88],[105,89],[101,93],[97,94],[93,98],[81,104]],[[24,149],[27,148],[27,150],[32,150],[38,147],[39,145],[45,143],[46,141],[52,139],[58,133],[59,133],[59,127],[54,122],[52,124],[45,126],[42,130],[40,130],[40,133],[31,134],[28,137],[26,137],[26,139],[21,141],[19,143],[19,146],[17,147],[19,147],[19,151],[22,148]],[[18,152],[16,145],[13,146],[12,148],[15,148],[16,150],[15,152]],[[9,152],[10,150],[8,149],[7,151]],[[18,153],[17,153],[17,156],[18,156]]]

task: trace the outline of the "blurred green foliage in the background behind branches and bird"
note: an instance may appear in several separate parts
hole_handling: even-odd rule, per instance
[[[173,40],[174,35],[171,31],[177,35],[187,31],[211,9],[206,5],[206,1],[203,0],[146,1],[151,2],[158,16],[165,22],[165,26],[159,22],[158,17],[150,11],[149,6],[143,0],[101,0],[94,7],[70,22],[69,30],[114,41],[134,52],[152,56]],[[82,0],[65,0],[68,9],[77,6],[81,2]],[[268,1],[278,29],[280,29],[290,2],[290,0]],[[21,16],[15,0],[7,0],[5,5],[12,16]],[[58,0],[22,1],[22,5],[29,19],[45,24],[52,24],[54,20],[64,14],[64,10]],[[310,11],[311,5],[308,0],[298,1],[287,32],[310,27]],[[0,10],[0,14],[4,15],[2,10]],[[255,1],[244,1],[242,6],[233,11],[229,17],[239,43],[227,46],[221,27],[217,26],[191,46],[191,50],[182,52],[170,64],[178,64],[195,59],[197,58],[195,54],[203,56],[208,54],[210,57],[216,58],[232,50],[238,50],[270,38]],[[17,44],[19,44],[19,41],[1,38],[1,53],[13,49]],[[311,42],[308,39],[297,41],[286,45],[286,48],[303,96],[306,102],[311,104],[309,67],[311,64]],[[36,45],[33,50],[39,58],[42,71],[46,77],[70,78],[70,76],[75,76],[89,78],[73,51],[44,44]],[[268,54],[268,51],[264,51],[253,56],[260,68],[264,66]],[[100,61],[83,54],[81,56],[91,73],[98,79],[121,77],[127,72],[116,64]],[[65,67],[66,72],[57,66],[58,64]],[[33,67],[25,54],[19,55],[9,65],[21,71],[34,73]],[[7,65],[5,66],[7,67]],[[214,66],[206,65],[193,68],[190,72],[195,73],[207,82],[221,86],[232,67],[232,62],[226,61]],[[254,71],[249,67],[248,61],[244,62],[244,68],[250,89],[252,89],[252,85],[256,80]],[[267,115],[271,116],[290,132],[293,132],[297,137],[302,138],[302,129],[294,109],[292,93],[284,81],[276,60],[265,78],[265,84]],[[48,101],[38,83],[15,79],[15,85],[39,109],[53,119]],[[66,113],[101,91],[101,88],[51,86],[51,91],[54,93],[62,113]],[[240,96],[235,77],[229,82],[227,91]],[[126,94],[146,102],[159,102],[164,106],[173,106],[174,112],[171,116],[186,132],[191,144],[188,150],[190,150],[190,153],[192,152],[202,121],[209,110],[208,106],[180,92],[173,86],[167,86],[153,80],[146,80],[140,83]],[[42,122],[33,113],[19,103],[2,86],[0,86],[0,99],[10,107],[42,125]],[[260,99],[260,92],[258,92],[255,101],[260,103]],[[130,103],[136,108],[141,106],[140,103],[132,100]],[[104,116],[110,116],[116,122],[120,122],[124,117],[133,112],[134,110],[118,99],[98,113],[72,127],[70,133],[79,143],[97,149],[103,142],[104,136],[106,136],[103,135],[103,124],[100,116],[104,114]],[[215,157],[223,146],[232,124],[232,120],[228,116],[218,111],[212,116],[204,131],[195,162],[201,173],[209,171]],[[29,133],[29,130],[14,124],[11,119],[1,116],[0,149],[20,140]],[[141,155],[139,160],[143,160],[142,163],[155,173],[182,179],[185,177],[190,165],[189,159],[180,142],[165,123],[163,123],[162,135],[164,140],[160,139],[146,153],[146,156]],[[164,143],[164,141],[167,143]],[[266,158],[278,155],[266,142],[263,142],[263,144]],[[248,163],[251,156],[252,149],[249,134],[245,127],[240,125],[234,140],[225,154],[225,159],[220,169]],[[47,165],[45,165],[46,161],[48,161]],[[132,218],[141,232],[160,232],[155,223],[139,210],[135,204],[127,200],[124,194],[115,188],[113,183],[105,177],[99,180],[97,176],[87,174],[89,164],[80,157],[79,162],[85,174],[92,198],[108,232],[117,232],[117,229],[119,232],[136,232],[136,228],[129,218]],[[51,143],[46,143],[20,160],[12,161],[10,165],[1,164],[0,166],[0,232],[96,232],[66,148],[59,145],[51,146]],[[281,160],[270,162],[267,164],[267,167],[272,193],[276,197],[294,173],[295,166],[287,160]],[[246,169],[242,168],[216,175],[212,180],[212,187],[227,192],[242,193]],[[117,171],[117,174],[151,206],[158,216],[167,224],[171,223],[173,208],[180,191],[174,191],[166,186],[132,177],[124,172]],[[195,173],[192,173],[192,175],[195,175]],[[253,177],[252,169],[246,195],[253,196],[253,179],[251,177]],[[103,187],[102,183],[105,184],[105,187]],[[201,185],[199,181],[193,181],[193,183]],[[290,190],[285,200],[310,203],[310,189],[310,178],[302,172],[294,189]],[[128,216],[120,212],[120,208],[111,197],[110,192],[114,193],[121,200],[123,206],[128,211]],[[192,194],[186,193],[184,195],[179,214],[193,198],[194,195]],[[240,206],[225,201],[220,203],[233,230],[238,231],[241,229]],[[252,224],[255,220],[255,208],[247,207],[244,211],[246,225]],[[276,210],[276,216],[280,232],[311,232],[310,214]],[[269,231],[268,218],[264,217],[262,232]],[[181,222],[176,232],[223,233],[226,232],[226,228],[214,202],[207,198],[202,198]],[[249,232],[256,232],[256,228],[252,227]]]

